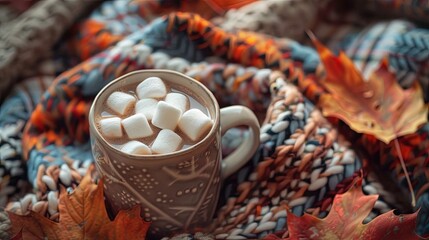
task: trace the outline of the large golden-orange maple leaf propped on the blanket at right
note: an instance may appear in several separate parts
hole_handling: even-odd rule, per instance
[[[395,74],[389,72],[386,59],[365,81],[343,52],[337,57],[309,35],[326,69],[320,84],[329,93],[319,102],[325,116],[337,117],[356,132],[374,135],[386,144],[416,132],[427,122],[428,108],[417,81],[411,88],[402,89]]]

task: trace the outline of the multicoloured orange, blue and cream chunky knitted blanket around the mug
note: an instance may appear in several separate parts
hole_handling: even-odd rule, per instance
[[[387,57],[399,84],[417,79],[428,103],[424,1],[88,2],[40,1],[0,24],[0,33],[10,33],[0,34],[2,208],[37,209],[58,221],[60,187],[73,191],[94,162],[93,98],[125,73],[171,69],[202,82],[221,106],[245,105],[261,121],[260,146],[225,180],[209,230],[173,238],[286,237],[286,208],[324,217],[360,176],[364,193],[379,195],[365,221],[420,209],[416,232],[429,234],[429,124],[398,138],[417,196],[413,209],[393,145],[328,121],[315,107],[326,91],[317,84],[324,66],[305,34],[311,29],[344,51],[364,76]],[[380,17],[377,4],[408,20]],[[246,134],[228,131],[223,154]],[[0,219],[6,239],[10,221]]]

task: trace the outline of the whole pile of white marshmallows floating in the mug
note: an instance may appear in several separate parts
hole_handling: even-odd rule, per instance
[[[138,84],[136,95],[138,99],[129,93],[113,92],[107,98],[106,105],[116,116],[102,118],[99,122],[99,130],[105,138],[128,137],[130,141],[121,147],[125,153],[171,153],[183,145],[182,136],[175,132],[177,128],[196,143],[213,125],[213,121],[201,110],[189,109],[186,95],[168,92],[167,86],[158,77],[146,78]],[[154,134],[149,121],[161,129],[155,140],[152,143],[136,140]]]

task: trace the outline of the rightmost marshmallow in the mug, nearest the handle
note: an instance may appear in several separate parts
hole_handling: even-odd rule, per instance
[[[180,130],[192,141],[200,140],[213,125],[213,121],[197,108],[186,111],[179,121]]]

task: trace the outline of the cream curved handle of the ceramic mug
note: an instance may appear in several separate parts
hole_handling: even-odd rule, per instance
[[[240,169],[252,157],[259,146],[259,121],[249,108],[229,106],[220,109],[222,135],[228,129],[238,126],[249,126],[250,134],[240,146],[222,160],[222,176],[224,179]]]

